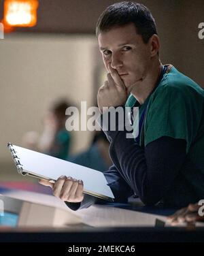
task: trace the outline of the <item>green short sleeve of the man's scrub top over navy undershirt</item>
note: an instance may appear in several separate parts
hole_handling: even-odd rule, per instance
[[[165,86],[156,90],[148,104],[145,146],[163,136],[186,140],[186,153],[199,129],[203,106],[190,87]]]

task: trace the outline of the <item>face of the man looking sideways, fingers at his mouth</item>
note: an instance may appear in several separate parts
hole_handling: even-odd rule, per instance
[[[98,37],[103,63],[118,71],[128,94],[146,78],[151,64],[151,45],[145,44],[137,34],[135,25],[129,23],[102,32]]]

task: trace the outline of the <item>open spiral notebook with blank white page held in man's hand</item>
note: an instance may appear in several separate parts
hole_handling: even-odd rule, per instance
[[[71,176],[77,180],[83,180],[84,193],[109,201],[114,200],[112,190],[107,185],[107,180],[102,172],[11,143],[8,143],[7,147],[19,174],[50,182],[55,182],[62,175]]]

